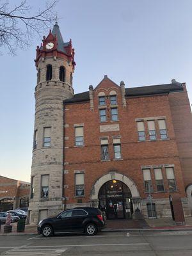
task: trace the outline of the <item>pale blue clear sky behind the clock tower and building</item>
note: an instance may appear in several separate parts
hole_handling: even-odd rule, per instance
[[[45,1],[30,4],[43,8]],[[192,103],[191,0],[60,0],[56,11],[63,39],[72,38],[76,51],[75,93],[95,88],[106,74],[126,88],[176,79]],[[40,43],[36,35],[17,56],[0,56],[0,175],[28,182]]]

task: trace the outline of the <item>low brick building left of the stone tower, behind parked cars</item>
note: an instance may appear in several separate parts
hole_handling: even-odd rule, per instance
[[[0,211],[28,207],[30,183],[0,176]]]

